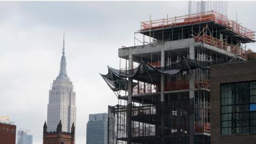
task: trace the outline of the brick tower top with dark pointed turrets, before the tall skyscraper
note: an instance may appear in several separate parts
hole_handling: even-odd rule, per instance
[[[47,125],[44,122],[43,144],[75,144],[75,125],[72,124],[71,133],[62,132],[61,121],[55,132],[47,132]]]

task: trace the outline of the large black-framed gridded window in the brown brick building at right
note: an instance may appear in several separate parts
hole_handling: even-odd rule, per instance
[[[221,134],[256,133],[256,82],[221,85]]]

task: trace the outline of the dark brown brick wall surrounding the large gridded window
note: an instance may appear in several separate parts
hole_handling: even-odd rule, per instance
[[[256,61],[211,66],[211,143],[256,143],[256,134],[221,135],[220,84],[256,80]]]

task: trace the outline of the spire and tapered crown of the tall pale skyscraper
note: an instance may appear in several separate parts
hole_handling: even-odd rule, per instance
[[[67,75],[67,68],[66,68],[66,57],[65,57],[65,33],[63,34],[63,47],[62,47],[62,57],[61,57],[61,61],[60,61],[60,72],[59,72],[59,76],[57,77],[57,79],[67,79],[68,75]]]

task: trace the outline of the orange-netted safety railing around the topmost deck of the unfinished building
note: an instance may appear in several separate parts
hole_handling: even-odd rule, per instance
[[[227,27],[227,29],[234,31],[236,34],[245,38],[254,40],[254,31],[239,25],[236,21],[229,20],[226,15],[222,15],[215,11],[195,13],[190,15],[182,15],[180,17],[157,19],[141,22],[141,30],[153,30],[171,26],[189,25],[199,22],[214,21],[219,25]]]

